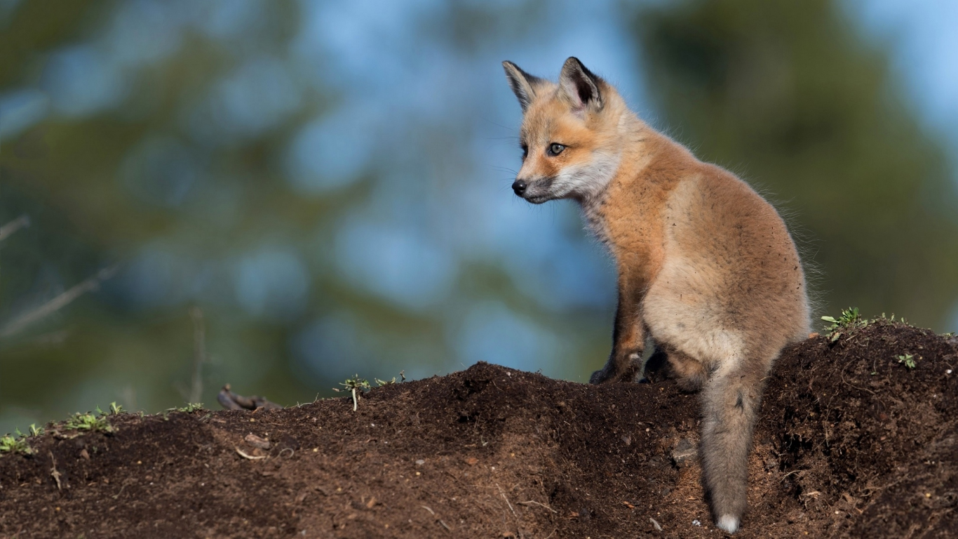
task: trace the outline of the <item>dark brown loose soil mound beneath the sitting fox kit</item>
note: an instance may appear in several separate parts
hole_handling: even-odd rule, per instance
[[[954,537],[956,366],[958,340],[898,323],[788,348],[737,536]],[[671,381],[487,363],[374,389],[357,411],[121,414],[113,434],[48,432],[0,457],[0,536],[720,537],[683,457],[697,416]]]

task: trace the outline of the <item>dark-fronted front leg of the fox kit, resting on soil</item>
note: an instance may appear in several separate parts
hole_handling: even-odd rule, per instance
[[[615,310],[612,330],[612,353],[602,370],[592,373],[589,384],[609,380],[629,382],[642,370],[642,353],[646,346],[645,325],[639,307],[642,289],[627,279],[619,279],[619,306]]]

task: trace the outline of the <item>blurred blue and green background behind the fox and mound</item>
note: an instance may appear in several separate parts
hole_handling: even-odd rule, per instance
[[[816,316],[958,329],[950,0],[0,0],[0,433],[478,361],[584,381],[614,271],[509,189],[568,56],[772,199]],[[22,226],[29,220],[29,226]],[[763,316],[755,313],[754,316]]]

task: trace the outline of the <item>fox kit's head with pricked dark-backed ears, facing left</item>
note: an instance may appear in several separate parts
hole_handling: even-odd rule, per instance
[[[615,176],[621,154],[623,100],[576,58],[565,60],[559,83],[502,62],[522,106],[522,168],[513,191],[535,204],[590,199]]]

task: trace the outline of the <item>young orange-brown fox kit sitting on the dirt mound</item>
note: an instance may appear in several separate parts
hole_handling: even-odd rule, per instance
[[[786,224],[741,179],[650,129],[578,59],[559,83],[503,66],[523,111],[513,191],[577,200],[615,258],[612,352],[590,382],[633,379],[650,338],[681,387],[702,389],[702,478],[718,526],[734,532],[764,377],[809,333]]]

